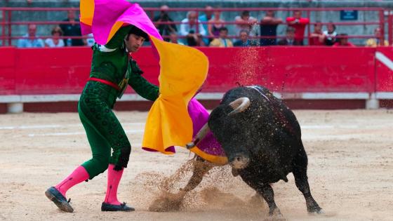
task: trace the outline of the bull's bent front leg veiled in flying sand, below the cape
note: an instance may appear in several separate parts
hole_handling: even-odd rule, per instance
[[[200,156],[195,157],[193,164],[192,177],[189,178],[187,185],[184,188],[180,188],[180,192],[183,192],[184,194],[195,189],[195,187],[202,182],[204,175],[215,167],[212,163],[205,161]]]

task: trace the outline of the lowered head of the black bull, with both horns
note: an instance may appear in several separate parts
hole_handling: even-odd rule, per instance
[[[246,148],[249,135],[244,133],[246,130],[242,128],[243,122],[237,114],[244,112],[248,106],[248,98],[239,98],[229,105],[220,105],[213,109],[208,123],[199,130],[194,140],[187,144],[187,148],[196,146],[212,130],[227,155],[229,165],[237,169],[245,168],[250,161]]]

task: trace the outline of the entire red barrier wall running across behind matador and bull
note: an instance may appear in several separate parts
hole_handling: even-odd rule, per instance
[[[224,92],[237,83],[260,84],[279,93],[393,91],[392,74],[375,67],[376,48],[199,49],[210,61],[203,92]],[[393,58],[392,48],[378,50]],[[81,93],[91,48],[0,48],[0,56],[0,95]],[[158,83],[159,63],[151,49],[141,48],[133,57],[144,76]]]

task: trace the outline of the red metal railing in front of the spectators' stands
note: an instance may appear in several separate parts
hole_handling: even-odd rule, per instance
[[[147,15],[151,19],[154,18],[154,13],[161,11],[160,8],[144,8],[145,11],[147,12]],[[392,36],[393,36],[393,31],[392,31],[392,26],[393,26],[393,15],[390,13],[390,10],[387,8],[214,8],[213,11],[221,11],[221,12],[241,12],[241,11],[250,11],[250,12],[255,12],[255,11],[304,11],[306,12],[305,18],[310,18],[312,12],[317,12],[317,11],[374,11],[378,12],[378,20],[374,21],[359,21],[359,22],[333,22],[335,25],[378,25],[381,30],[381,35],[380,35],[380,43],[383,43],[385,41],[385,22],[387,22],[387,27],[388,27],[388,40],[389,44],[392,44]],[[12,33],[12,27],[17,26],[17,25],[28,25],[28,24],[35,24],[35,25],[60,25],[60,24],[71,24],[71,22],[66,22],[66,21],[44,21],[44,20],[29,20],[29,21],[13,21],[13,15],[12,13],[14,11],[53,11],[53,12],[58,12],[58,11],[79,11],[78,8],[0,8],[0,13],[2,14],[2,20],[0,22],[1,26],[1,36],[0,40],[2,41],[2,46],[11,46],[11,40],[12,39],[23,39],[26,37],[22,36],[13,36]],[[203,13],[206,11],[204,8],[168,8],[168,13],[170,12],[186,12],[186,11],[196,11],[196,16],[199,17],[198,15],[200,13]],[[387,15],[387,20],[385,20],[385,14]],[[173,22],[154,22],[156,25],[159,24],[168,24],[168,25],[180,25],[182,24],[181,21],[173,21]],[[202,24],[207,24],[208,22],[200,22]],[[321,25],[326,25],[328,23],[332,22],[321,22]],[[235,25],[236,22],[234,21],[225,21],[222,22],[224,25]],[[260,22],[256,23],[257,25],[260,25]],[[311,25],[316,24],[314,21],[310,21],[309,25],[307,25],[307,36],[305,38],[309,38],[309,34],[311,34]],[[280,25],[287,25],[285,22],[281,23]],[[196,32],[198,32],[198,27],[199,27],[199,21],[196,21]],[[37,38],[49,38],[51,36],[38,36]],[[168,36],[164,36],[168,37]],[[184,36],[179,36],[180,38],[184,38]],[[208,36],[206,35],[205,37],[210,37],[212,38],[213,36]],[[229,38],[235,39],[238,36],[228,36]],[[348,35],[348,38],[358,38],[358,39],[368,39],[375,37],[373,35]],[[87,39],[87,36],[60,36],[60,39]],[[255,39],[272,39],[272,38],[283,38],[283,36],[254,36]]]

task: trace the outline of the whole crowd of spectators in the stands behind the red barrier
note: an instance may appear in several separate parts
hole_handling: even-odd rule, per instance
[[[234,25],[234,33],[229,34],[228,24],[221,17],[221,11],[206,6],[203,12],[188,11],[180,25],[171,22],[169,7],[160,7],[159,14],[153,18],[157,30],[165,41],[187,46],[212,47],[248,47],[248,46],[304,46],[305,29],[310,25],[308,18],[302,17],[302,11],[293,11],[293,16],[285,20],[277,18],[274,11],[266,11],[260,20],[251,16],[250,11],[242,11],[230,25]],[[199,16],[198,16],[199,15]],[[53,27],[51,38],[39,39],[36,36],[36,25],[28,25],[27,34],[18,40],[20,48],[93,46],[93,35],[81,36],[76,11],[68,11],[67,24]],[[277,36],[277,27],[286,25],[285,36]],[[309,46],[354,46],[348,41],[348,34],[338,34],[333,22],[326,25],[314,22],[314,29],[308,36]],[[368,39],[365,46],[389,45],[387,41],[380,43],[381,30],[375,29],[375,37]],[[70,36],[71,38],[67,38]],[[234,37],[235,36],[235,37]],[[75,38],[76,37],[76,38]]]

